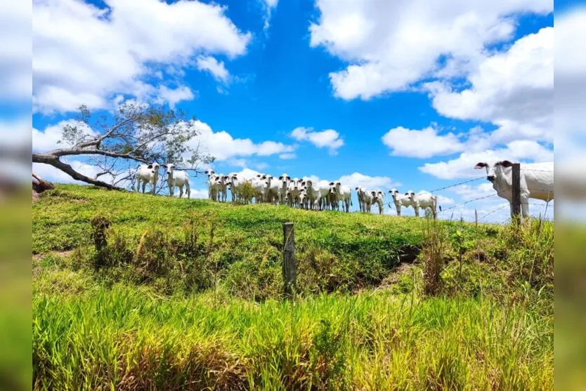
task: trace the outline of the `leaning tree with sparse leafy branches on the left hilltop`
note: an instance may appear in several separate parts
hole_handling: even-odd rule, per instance
[[[137,163],[174,163],[197,172],[213,161],[200,150],[199,134],[195,119],[162,106],[125,103],[113,115],[96,117],[82,105],[76,121],[62,128],[63,147],[33,152],[32,162],[49,164],[75,180],[119,190],[120,184],[134,182]],[[96,175],[80,173],[64,161],[67,157],[84,157],[83,164],[95,166]],[[110,183],[100,178],[110,178]]]

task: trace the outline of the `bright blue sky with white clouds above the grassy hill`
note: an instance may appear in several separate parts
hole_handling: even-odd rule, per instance
[[[56,145],[81,104],[108,113],[140,100],[195,115],[217,172],[418,192],[482,176],[478,161],[553,159],[553,0],[33,3],[34,83],[10,88],[32,92],[36,150]],[[9,81],[31,72],[27,54],[14,55]],[[476,180],[438,194],[449,208],[491,192]],[[444,214],[471,219],[502,202]]]

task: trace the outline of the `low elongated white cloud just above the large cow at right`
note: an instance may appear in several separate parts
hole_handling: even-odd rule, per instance
[[[519,161],[552,161],[554,151],[535,141],[517,140],[508,143],[506,147],[484,152],[464,152],[460,157],[438,163],[426,163],[419,167],[424,173],[441,179],[474,178],[482,173],[474,170],[478,161],[492,161],[500,159]]]

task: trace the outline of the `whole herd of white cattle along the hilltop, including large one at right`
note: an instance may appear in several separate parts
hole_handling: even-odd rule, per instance
[[[493,183],[497,194],[512,202],[512,163],[508,160],[496,162],[479,162],[474,168],[486,168],[486,179]],[[152,194],[155,194],[159,168],[167,169],[167,185],[169,195],[174,197],[175,187],[179,188],[179,197],[183,197],[185,187],[188,198],[191,195],[189,175],[185,171],[175,169],[174,164],[142,164],[136,171],[137,190],[145,192],[147,183],[150,184]],[[522,216],[529,216],[528,199],[541,199],[551,201],[554,199],[554,163],[523,164],[521,168],[521,212]],[[214,201],[226,202],[228,190],[231,201],[249,204],[252,199],[257,204],[271,203],[275,205],[288,205],[294,208],[309,210],[337,210],[348,213],[352,206],[352,190],[347,185],[328,180],[314,181],[311,178],[291,178],[283,173],[278,178],[268,174],[257,174],[254,178],[245,178],[240,173],[223,175],[209,169],[206,171],[208,178],[208,196]],[[354,189],[358,195],[358,205],[361,212],[370,213],[372,205],[376,204],[379,213],[384,212],[385,192],[382,190],[367,190],[358,186]],[[415,216],[419,216],[419,210],[431,209],[434,218],[437,218],[438,197],[429,192],[415,193],[409,190],[405,194],[396,189],[389,190],[391,199],[401,216],[401,208],[411,206],[415,210]],[[390,203],[389,203],[390,205]],[[512,207],[511,207],[512,210]]]

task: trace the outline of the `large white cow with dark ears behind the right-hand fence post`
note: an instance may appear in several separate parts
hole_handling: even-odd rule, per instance
[[[486,179],[493,183],[499,197],[507,199],[513,216],[512,162],[479,162],[474,168],[486,168]],[[554,199],[554,162],[521,164],[521,215],[529,216],[529,199]]]

